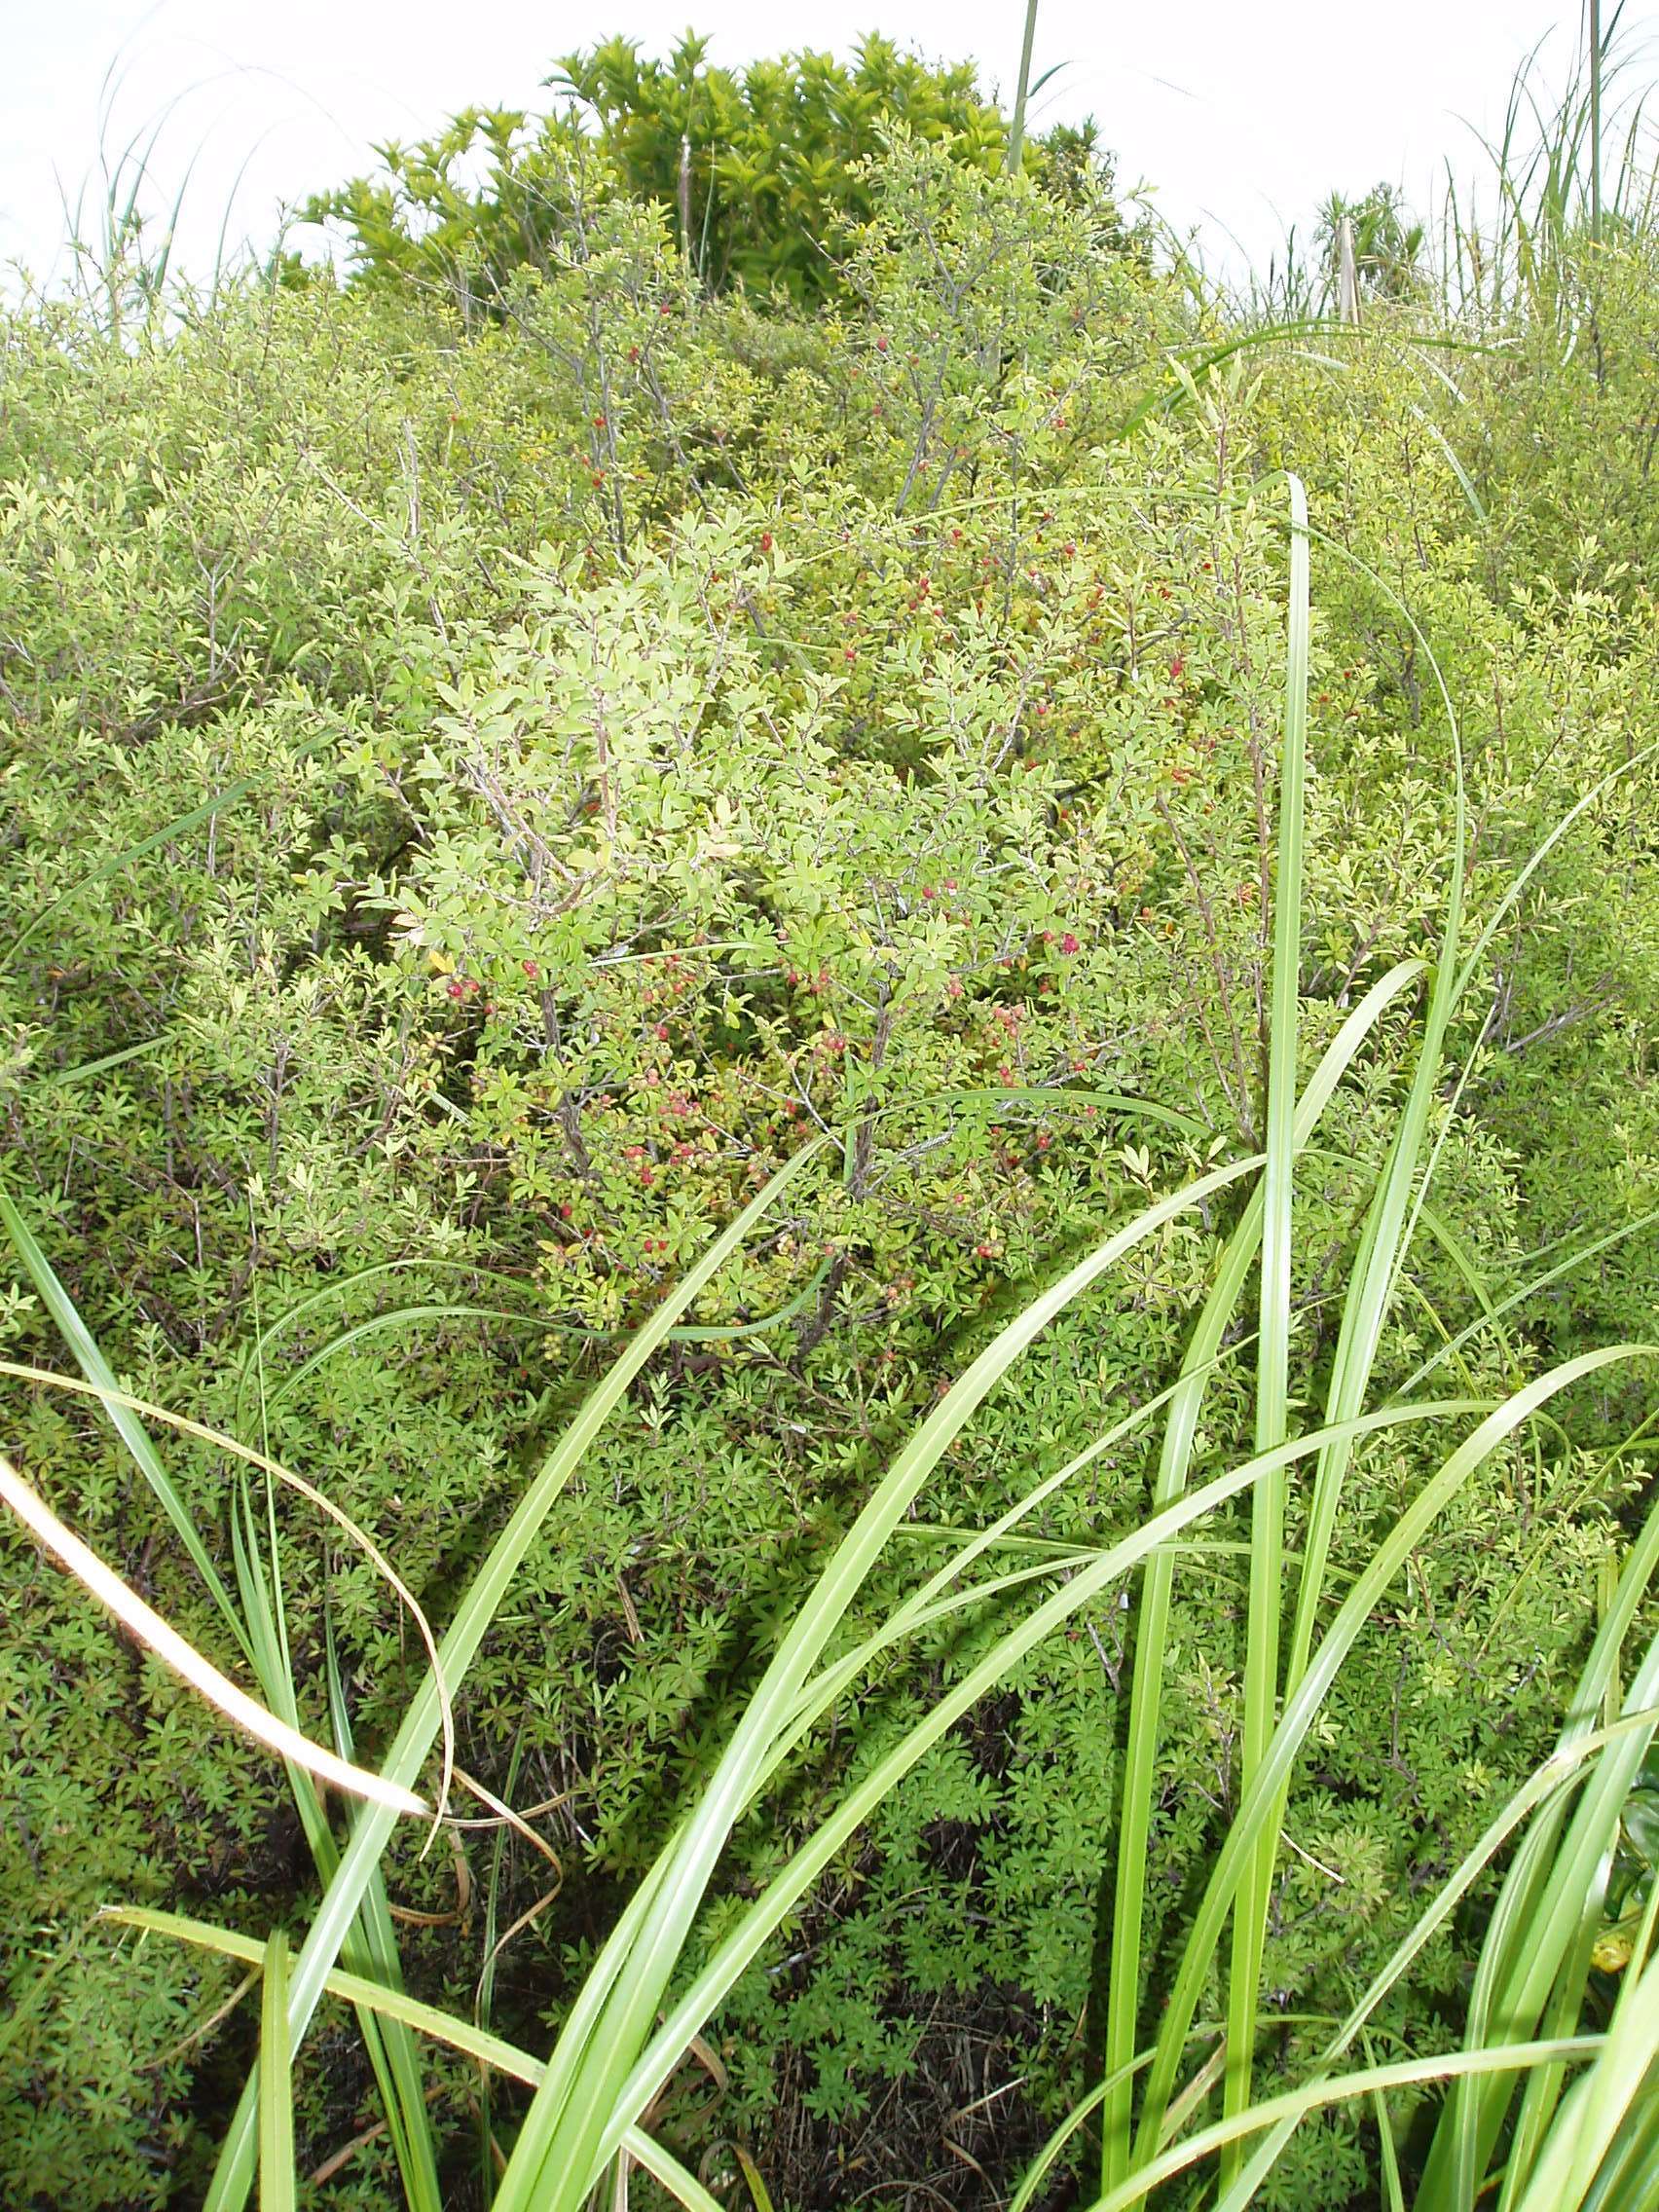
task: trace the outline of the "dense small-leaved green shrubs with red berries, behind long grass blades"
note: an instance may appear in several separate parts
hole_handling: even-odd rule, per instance
[[[661,148],[611,131],[608,153],[668,197]],[[706,290],[661,210],[564,186],[568,221],[493,270],[478,330],[312,281],[126,349],[69,310],[0,334],[7,1188],[126,1387],[305,1471],[442,1619],[526,1455],[710,1223],[814,1124],[847,1139],[641,1374],[467,1681],[460,1763],[555,1801],[557,1885],[500,1832],[392,1854],[392,1896],[431,1916],[400,1931],[405,1975],[462,2011],[557,1889],[487,1973],[489,2017],[538,2048],[894,1438],[1148,1190],[1263,1141],[1276,471],[1323,533],[1305,1064],[1433,956],[1449,889],[1451,743],[1391,595],[1462,712],[1475,927],[1659,737],[1646,246],[1606,257],[1599,345],[1566,367],[1522,332],[1453,392],[1380,319],[1183,387],[1166,354],[1225,334],[1121,252],[1104,197],[922,135],[843,210],[867,226],[814,319]],[[737,230],[710,237],[759,281]],[[1655,1203],[1652,801],[1650,768],[1615,783],[1495,940],[1385,1387],[1540,1248]],[[1307,1402],[1409,1051],[1398,1015],[1298,1186]],[[933,1526],[989,1520],[1168,1385],[1230,1225],[1228,1194],[1168,1223],[1037,1340],[860,1619]],[[1646,1334],[1652,1265],[1652,1232],[1626,1237],[1471,1340],[1460,1385]],[[64,1363],[22,1267],[0,1327],[7,1358]],[[1644,1383],[1613,1374],[1484,1464],[1340,1677],[1272,1898],[1270,2079],[1555,1741],[1641,1464]],[[102,1416],[27,1383],[4,1405],[64,1517],[234,1659]],[[1228,1367],[1201,1469],[1250,1422]],[[164,1453],[228,1528],[230,1462]],[[1436,1460],[1416,1429],[1360,1453],[1338,1590]],[[1042,1540],[1121,1535],[1146,1480],[1128,1438]],[[420,1646],[307,1506],[274,1522],[301,1712],[327,1734],[332,1648],[372,1756]],[[272,1763],[4,1542],[0,2172],[18,2203],[197,2203],[252,2028],[246,2006],[190,2026],[234,1975],[88,1913],[301,1929],[312,1865]],[[1225,1553],[1177,1579],[1155,1951],[1237,1801],[1243,1590]],[[699,1947],[998,1626],[936,1624],[836,1708],[776,1820],[739,1829]],[[690,2163],[723,2185],[741,2143],[779,2205],[902,2203],[925,2177],[1000,2201],[1097,2033],[1126,1637],[1091,1606],[883,1805],[659,2101]],[[1455,2042],[1469,1958],[1442,1929],[1378,2039]],[[343,2015],[307,2051],[319,2166],[372,2126],[374,2084]],[[480,2201],[476,2075],[431,2081],[445,2201]],[[1374,2201],[1365,2126],[1307,2128],[1265,2201]],[[396,2188],[369,2139],[314,2201]]]

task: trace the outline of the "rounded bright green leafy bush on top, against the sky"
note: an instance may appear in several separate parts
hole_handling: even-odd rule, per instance
[[[626,38],[571,53],[549,80],[560,113],[467,108],[434,139],[378,148],[380,179],[319,195],[305,219],[345,226],[361,279],[427,285],[471,316],[500,305],[518,268],[571,250],[599,184],[659,208],[703,288],[816,307],[845,296],[843,261],[885,204],[876,164],[896,135],[978,177],[1004,168],[1009,126],[971,66],[933,69],[885,38],[849,66],[790,53],[741,77],[706,55],[692,33],[666,62],[641,62]],[[1128,243],[1093,126],[1055,131],[1022,166],[1055,197],[1102,206]]]

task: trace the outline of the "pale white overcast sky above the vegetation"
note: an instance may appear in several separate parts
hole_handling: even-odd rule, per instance
[[[383,139],[420,137],[460,106],[546,102],[555,55],[613,31],[666,53],[690,0],[0,0],[0,265],[62,270],[64,197],[102,199],[108,157],[161,122],[153,206],[186,170],[186,265],[232,237],[270,243],[276,210],[372,166]],[[1655,9],[1630,0],[1652,27]],[[975,60],[1011,93],[1020,0],[703,0],[712,58],[739,66],[779,46],[845,55],[867,29],[936,60]],[[1225,234],[1265,259],[1332,190],[1400,184],[1416,206],[1451,155],[1478,168],[1469,124],[1493,131],[1515,66],[1544,35],[1551,82],[1579,35],[1579,0],[1042,0],[1035,73],[1048,119],[1093,113],[1119,181],[1148,179],[1181,230]],[[1648,44],[1648,60],[1659,46]],[[115,73],[113,97],[106,75]],[[1644,75],[1659,75],[1655,69]],[[195,168],[190,168],[195,164]]]

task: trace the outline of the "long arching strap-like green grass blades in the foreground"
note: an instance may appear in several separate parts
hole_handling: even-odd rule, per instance
[[[495,2185],[498,2212],[580,2212],[595,2190],[613,2179],[617,2199],[626,2172],[639,2166],[657,2177],[684,2205],[708,2212],[712,2197],[679,2161],[650,2137],[648,2112],[675,2066],[721,2006],[741,1973],[761,1955],[783,1920],[807,1896],[814,1880],[847,1845],[880,1801],[905,1774],[1006,1681],[1046,1637],[1071,1621],[1104,1590],[1137,1577],[1135,1666],[1128,1703],[1128,1745],[1121,1781],[1117,1867],[1110,1927],[1110,1973],[1104,1989],[1104,2070],[1084,2110],[1048,2146],[1015,2203],[1035,2201],[1042,2174],[1057,2157],[1075,2150],[1077,2128],[1099,2117],[1102,2166],[1097,2212],[1124,2212],[1146,2201],[1166,2179],[1219,2159],[1219,2185],[1228,2212],[1241,2212],[1283,2152],[1294,2128],[1332,2104],[1360,2101],[1385,2108],[1391,2090],[1449,2081],[1442,2141],[1416,2203],[1429,2212],[1473,2205],[1517,2081],[1522,2115],[1515,2124],[1517,2150],[1504,2172],[1504,2203],[1517,2212],[1544,2212],[1555,2203],[1595,2201],[1604,2212],[1632,2212],[1650,2203],[1644,2166],[1652,2148],[1652,2119],[1641,2088],[1659,2053],[1659,1969],[1648,1958],[1652,1911],[1644,1924],[1624,1984],[1624,2000],[1606,2033],[1579,2028],[1586,1975],[1586,1931],[1599,1909],[1599,1871],[1617,1832],[1619,1807],[1630,1774],[1639,1765],[1659,1719],[1659,1644],[1632,1677],[1621,1714],[1608,1714],[1610,1683],[1619,1650],[1659,1562],[1659,1517],[1632,1546],[1619,1590],[1606,1610],[1601,1632],[1566,1717],[1557,1754],[1493,1820],[1475,1851],[1442,1885],[1418,1918],[1394,1960],[1376,1978],[1360,2004],[1332,2037],[1310,2079],[1265,2101],[1254,2099],[1252,2055],[1261,2002],[1263,1924],[1274,1876],[1285,1794],[1298,1752],[1318,1723],[1338,1670],[1363,1635],[1367,1619],[1411,1551],[1425,1542],[1436,1520],[1462,1484],[1517,1436],[1564,1389],[1652,1347],[1615,1345],[1586,1352],[1522,1383],[1502,1400],[1427,1396],[1425,1385],[1440,1369],[1453,1369],[1460,1345],[1480,1327],[1498,1327],[1502,1314],[1526,1292],[1504,1303],[1484,1301],[1482,1316],[1449,1338],[1422,1363],[1387,1402],[1371,1405],[1371,1376],[1385,1325],[1400,1292],[1416,1232],[1433,1232],[1436,1214],[1427,1186],[1436,1166],[1436,1108],[1447,1082],[1444,1046],[1460,1000],[1482,973],[1493,931],[1520,896],[1531,874],[1555,843],[1548,841],[1522,872],[1509,898],[1498,905],[1482,936],[1464,951],[1462,878],[1464,821],[1462,785],[1455,794],[1455,847],[1447,887],[1442,942],[1433,969],[1407,960],[1383,975],[1347,1015],[1314,1068],[1298,1064],[1298,962],[1303,942],[1303,770],[1305,697],[1310,653],[1310,544],[1318,538],[1296,480],[1290,482],[1290,622],[1285,670],[1285,723],[1279,774],[1276,869],[1274,869],[1274,969],[1265,1033],[1265,1148],[1261,1155],[1223,1159],[1197,1172],[1183,1188],[1144,1206],[1113,1230],[1055,1283],[1009,1321],[978,1358],[956,1378],[925,1420],[909,1433],[876,1482],[869,1500],[836,1546],[818,1579],[799,1597],[781,1641],[734,1721],[712,1774],[679,1809],[679,1820],[659,1858],[639,1880],[611,1938],[595,1958],[586,1982],[564,2015],[546,2059],[513,2051],[476,2022],[416,2006],[394,1971],[363,1971],[349,1958],[336,1964],[365,1905],[376,1896],[378,1863],[392,1834],[392,1814],[367,1805],[356,1814],[352,1840],[338,1865],[321,1867],[323,1900],[305,1942],[290,1960],[281,1944],[259,1944],[226,1931],[206,1931],[159,1913],[124,1918],[157,1936],[206,1942],[263,1971],[263,2057],[250,2075],[223,2141],[208,2192],[208,2212],[230,2212],[246,2203],[265,2166],[279,2159],[281,2115],[292,2053],[299,2048],[319,1997],[325,1991],[349,1997],[363,2022],[380,2037],[427,2033],[480,2064],[524,2081],[533,2095],[522,2128]],[[1409,617],[1407,617],[1409,619]],[[1416,628],[1416,626],[1413,626]],[[1420,633],[1418,633],[1420,637]],[[1427,639],[1420,637],[1429,664]],[[1451,699],[1442,701],[1455,743]],[[1597,787],[1599,792],[1599,787]],[[1597,792],[1584,794],[1568,816],[1577,818]],[[1562,836],[1566,825],[1557,830]],[[1378,1022],[1427,984],[1416,1064],[1394,1128],[1391,1144],[1371,1190],[1356,1250],[1340,1296],[1336,1358],[1316,1425],[1294,1433],[1292,1345],[1296,1310],[1292,1261],[1296,1239],[1296,1161],[1318,1133],[1321,1115],[1356,1064]],[[1464,1071],[1467,1073],[1467,1071]],[[1462,1077],[1453,1086],[1455,1093]],[[648,1325],[622,1352],[560,1436],[520,1504],[473,1575],[456,1617],[440,1641],[438,1661],[451,1692],[465,1683],[471,1659],[502,1606],[511,1579],[533,1537],[544,1526],[560,1493],[602,1447],[608,1416],[619,1405],[641,1365],[681,1325],[681,1314],[712,1281],[717,1270],[754,1230],[779,1192],[816,1157],[825,1139],[794,1155],[779,1177],[708,1248],[690,1274],[668,1294]],[[1113,1270],[1166,1223],[1234,1192],[1241,1210],[1228,1237],[1210,1294],[1192,1327],[1177,1378],[1148,1405],[1128,1409],[1104,1436],[1057,1473],[1031,1484],[989,1528],[931,1531],[947,1540],[947,1557],[916,1579],[909,1595],[847,1650],[845,1630],[876,1562],[896,1542],[916,1537],[911,1511],[922,1498],[942,1453],[960,1436],[975,1409],[1018,1367],[1026,1347],[1073,1301],[1110,1283]],[[1442,1230],[1442,1234],[1449,1234]],[[1455,1241],[1453,1241],[1455,1250]],[[1557,1279],[1597,1245],[1540,1276]],[[42,1279],[40,1274],[35,1276]],[[1243,1301],[1256,1285],[1256,1422],[1252,1453],[1203,1482],[1194,1482],[1194,1451],[1206,1391],[1217,1369],[1237,1358]],[[62,1318],[62,1314],[60,1314]],[[82,1365],[86,1349],[77,1347]],[[111,1405],[113,1418],[117,1405]],[[1447,1429],[1453,1442],[1376,1542],[1360,1571],[1332,1608],[1327,1562],[1338,1526],[1345,1478],[1354,1453],[1371,1436],[1396,1429]],[[1020,1524],[1104,1451],[1128,1436],[1157,1436],[1157,1473],[1150,1506],[1139,1526],[1095,1546],[1037,1546],[1022,1551]],[[150,1475],[155,1480],[155,1475]],[[1285,1517],[1292,1480],[1305,1480],[1305,1535],[1296,1573],[1290,1577]],[[164,1504],[166,1491],[157,1491]],[[1144,1955],[1146,1843],[1159,1765],[1159,1694],[1168,1661],[1172,1582],[1183,1548],[1221,1506],[1250,1495],[1250,1608],[1245,1659],[1245,1767],[1241,1796],[1208,1874],[1208,1887],[1181,1953],[1164,1982],[1157,2035],[1141,2042],[1141,1997],[1148,1982]],[[239,1566],[246,1588],[259,1588],[257,1524],[243,1511]],[[1011,1553],[1018,1564],[993,1559]],[[208,1568],[210,1571],[210,1568]],[[737,1827],[768,1787],[810,1745],[825,1712],[883,1655],[929,1624],[973,1606],[1024,1595],[1029,1610],[1004,1628],[984,1655],[918,1719],[885,1754],[834,1798],[814,1832],[787,1856],[761,1896],[743,1902],[719,1944],[686,1980],[684,1958]],[[257,1663],[272,1666],[281,1652],[281,1613],[263,1606],[265,1626]],[[1599,1725],[1597,1725],[1599,1723]],[[440,1699],[436,1679],[409,1708],[385,1761],[385,1778],[411,1790],[436,1745]],[[1577,1796],[1577,1809],[1571,1801]],[[1365,2053],[1367,2022],[1376,2004],[1407,1971],[1429,1936],[1455,1911],[1493,1858],[1526,1829],[1513,1858],[1493,1933],[1482,1958],[1462,2051],[1405,2064],[1367,2064],[1343,2070],[1358,2044]],[[1199,1997],[1221,1955],[1232,1922],[1232,1944],[1223,1966],[1225,2055],[1217,2064],[1199,2059],[1190,2070],[1192,2024]],[[400,2046],[403,2048],[403,2046]],[[1579,2068],[1568,2088],[1566,2068]],[[1199,2126],[1221,2088],[1219,2119]],[[407,2110],[400,2106],[400,2110]],[[281,2183],[270,2183],[279,2188]],[[1394,2197],[1400,2177],[1389,2170]],[[1540,2194],[1555,2190],[1555,2197]],[[1575,2194],[1577,2192],[1577,2194]],[[1599,2194],[1590,2194],[1599,2192]]]

